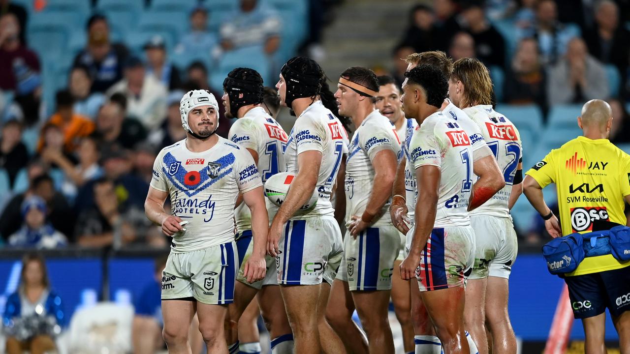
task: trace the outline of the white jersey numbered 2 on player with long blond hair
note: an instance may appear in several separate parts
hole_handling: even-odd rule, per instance
[[[493,110],[491,105],[464,108],[464,113],[481,128],[481,134],[495,155],[499,169],[503,171],[503,178],[505,178],[505,187],[496,192],[488,202],[473,210],[471,215],[510,217],[508,202],[510,193],[512,193],[518,161],[523,156],[520,134],[512,122],[501,113]]]

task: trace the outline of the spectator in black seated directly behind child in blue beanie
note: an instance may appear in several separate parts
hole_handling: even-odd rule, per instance
[[[36,195],[46,202],[47,222],[64,235],[72,235],[74,230],[74,213],[66,198],[55,191],[52,178],[45,173],[45,167],[38,161],[28,167],[30,186],[25,193],[11,198],[0,216],[0,235],[5,239],[18,231],[21,227],[21,205],[26,197]]]

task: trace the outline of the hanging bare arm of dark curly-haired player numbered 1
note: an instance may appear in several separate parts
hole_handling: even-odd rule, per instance
[[[420,264],[420,251],[425,248],[427,240],[435,225],[437,215],[437,201],[440,190],[440,178],[442,171],[437,166],[425,165],[416,169],[418,180],[418,200],[416,201],[415,229],[411,239],[411,247],[407,258],[400,265],[400,276],[404,280],[410,280],[415,276],[416,268]]]

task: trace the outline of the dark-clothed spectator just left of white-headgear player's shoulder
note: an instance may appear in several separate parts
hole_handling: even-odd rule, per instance
[[[149,185],[132,173],[133,163],[129,157],[129,152],[116,145],[103,149],[100,165],[103,166],[103,178],[113,181],[122,207],[126,208],[131,205],[134,208],[144,210],[144,200],[147,197]],[[84,210],[96,205],[94,199],[95,183],[95,180],[87,181],[79,189],[74,203],[76,210]]]

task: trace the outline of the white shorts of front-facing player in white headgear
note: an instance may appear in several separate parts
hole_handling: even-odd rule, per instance
[[[162,300],[193,297],[203,304],[231,304],[237,271],[234,241],[198,251],[171,252],[162,272]]]

